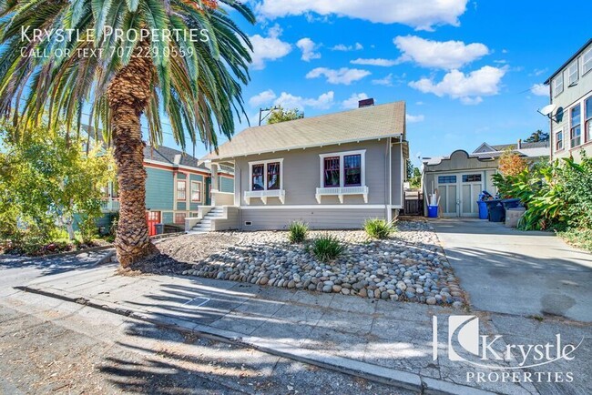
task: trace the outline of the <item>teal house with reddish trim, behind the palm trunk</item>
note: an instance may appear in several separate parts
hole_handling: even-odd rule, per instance
[[[209,168],[199,165],[198,159],[169,147],[144,148],[146,169],[146,218],[150,236],[156,234],[155,225],[162,223],[183,230],[185,218],[198,215],[199,207],[211,201],[212,185]],[[216,185],[219,193],[233,196],[234,181],[230,167],[218,169]],[[117,184],[105,188],[102,202],[104,218],[99,220],[103,230],[119,210]]]

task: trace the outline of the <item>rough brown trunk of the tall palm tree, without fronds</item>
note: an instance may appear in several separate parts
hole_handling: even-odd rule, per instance
[[[140,43],[139,47],[143,47],[143,54],[147,53],[148,43]],[[149,57],[132,56],[128,66],[107,87],[120,199],[115,246],[123,268],[156,252],[148,238],[144,142],[140,127],[140,115],[152,93],[153,67]]]

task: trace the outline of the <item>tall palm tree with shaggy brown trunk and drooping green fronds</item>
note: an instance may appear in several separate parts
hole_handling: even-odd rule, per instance
[[[79,133],[89,109],[115,148],[123,267],[154,252],[140,116],[152,143],[166,114],[180,146],[189,136],[217,148],[217,132],[230,137],[245,115],[252,47],[234,14],[255,21],[235,0],[0,0],[0,115]]]

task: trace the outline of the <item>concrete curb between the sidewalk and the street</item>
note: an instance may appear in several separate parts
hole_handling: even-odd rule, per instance
[[[174,317],[167,316],[160,316],[158,319],[154,319],[148,317],[148,313],[144,311],[124,308],[116,303],[103,300],[87,299],[83,296],[71,292],[65,292],[60,289],[34,288],[32,286],[19,286],[15,287],[15,289],[43,295],[49,298],[82,304],[94,309],[101,309],[131,319],[149,322],[162,328],[175,329],[195,334],[203,338],[214,339],[250,349],[258,349],[271,355],[290,360],[297,360],[324,369],[360,377],[365,380],[393,385],[406,390],[416,390],[421,394],[495,395],[494,392],[486,390],[478,390],[473,387],[455,384],[449,381],[427,378],[415,373],[385,368],[359,360],[330,356],[312,349],[295,348],[279,341],[246,336],[230,330],[216,329],[207,325],[195,324],[183,319],[175,319]]]

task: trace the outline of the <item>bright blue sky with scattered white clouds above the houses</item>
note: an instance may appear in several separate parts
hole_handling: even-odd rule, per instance
[[[298,106],[317,116],[360,97],[404,100],[416,166],[418,154],[472,151],[484,141],[546,131],[536,113],[548,104],[539,84],[590,38],[592,3],[576,3],[251,0],[259,22],[240,24],[255,46],[244,88],[251,124],[260,106]],[[165,145],[175,147],[172,137]]]

